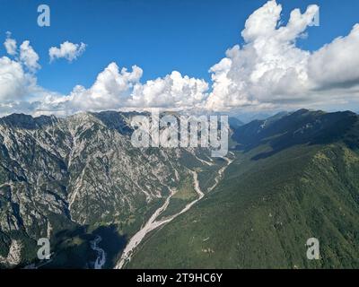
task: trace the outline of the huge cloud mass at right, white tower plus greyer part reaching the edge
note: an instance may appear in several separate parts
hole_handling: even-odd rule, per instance
[[[286,25],[279,24],[281,13],[281,4],[271,0],[250,15],[241,31],[242,47],[228,49],[210,69],[208,109],[291,108],[335,101],[339,94],[341,100],[358,97],[346,88],[359,84],[359,25],[348,36],[310,52],[297,48],[296,40],[319,6],[309,5],[304,13],[294,9]]]

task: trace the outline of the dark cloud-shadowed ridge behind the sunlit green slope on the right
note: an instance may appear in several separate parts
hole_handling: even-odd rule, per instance
[[[256,120],[236,129],[233,138],[240,149],[269,144],[272,153],[301,143],[343,141],[352,148],[359,143],[358,117],[351,111],[325,113],[300,109],[285,117]]]

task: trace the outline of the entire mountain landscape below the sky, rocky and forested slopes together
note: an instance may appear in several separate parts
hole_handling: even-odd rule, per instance
[[[359,116],[300,109],[243,125],[232,150],[135,148],[105,111],[0,119],[0,266],[358,267]],[[189,206],[189,207],[188,207]],[[161,209],[161,213],[153,214]],[[51,259],[37,258],[37,240]],[[306,257],[320,240],[320,260]],[[96,241],[97,242],[97,241]]]

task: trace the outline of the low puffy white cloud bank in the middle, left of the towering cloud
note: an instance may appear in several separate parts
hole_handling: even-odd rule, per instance
[[[110,63],[89,89],[81,85],[66,100],[66,109],[103,110],[121,108],[193,108],[206,100],[208,84],[204,80],[172,72],[163,78],[140,83],[143,71],[132,71]]]

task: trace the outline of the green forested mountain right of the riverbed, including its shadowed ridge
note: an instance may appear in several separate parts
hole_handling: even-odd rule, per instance
[[[301,109],[233,133],[235,160],[128,268],[358,268],[359,117]],[[320,241],[320,260],[306,256]]]

